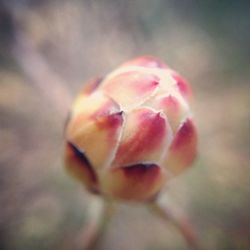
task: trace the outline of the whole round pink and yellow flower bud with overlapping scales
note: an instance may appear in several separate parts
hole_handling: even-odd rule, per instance
[[[149,201],[196,156],[191,88],[153,57],[84,85],[65,129],[65,165],[88,190]]]

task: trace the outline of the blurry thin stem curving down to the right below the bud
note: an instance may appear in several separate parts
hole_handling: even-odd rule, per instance
[[[149,204],[149,208],[159,217],[166,222],[172,222],[172,224],[180,231],[182,236],[185,238],[190,249],[198,250],[201,249],[196,234],[190,222],[177,214],[173,209],[163,206],[159,202],[155,201]]]

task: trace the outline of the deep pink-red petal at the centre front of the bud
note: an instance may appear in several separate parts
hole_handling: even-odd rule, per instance
[[[170,137],[163,114],[147,108],[128,113],[113,166],[159,161]]]

